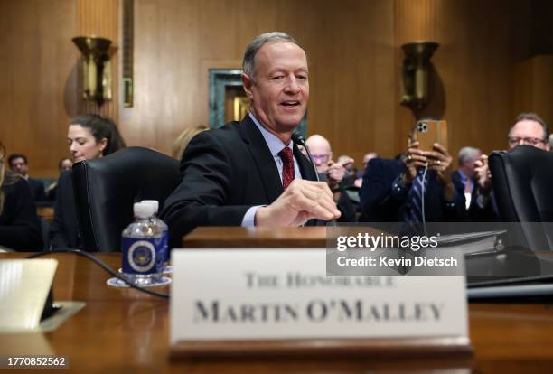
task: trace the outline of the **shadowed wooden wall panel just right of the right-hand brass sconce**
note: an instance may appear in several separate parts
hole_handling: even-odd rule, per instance
[[[450,153],[472,145],[489,153],[505,147],[511,123],[512,2],[439,1],[435,64],[445,87]]]

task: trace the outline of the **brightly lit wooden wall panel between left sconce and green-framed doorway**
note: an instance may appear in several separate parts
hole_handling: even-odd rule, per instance
[[[197,92],[199,4],[135,3],[135,104],[120,109],[121,128],[131,145],[169,154],[183,126],[200,123],[200,104],[205,101]]]

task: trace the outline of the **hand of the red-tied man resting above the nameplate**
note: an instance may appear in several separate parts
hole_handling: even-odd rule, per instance
[[[295,179],[276,201],[256,212],[256,226],[300,226],[307,220],[339,218],[326,182]]]

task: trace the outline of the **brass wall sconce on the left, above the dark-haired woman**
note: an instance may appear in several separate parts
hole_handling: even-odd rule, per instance
[[[95,36],[77,36],[72,39],[83,58],[83,98],[93,100],[101,107],[111,100],[111,41]]]

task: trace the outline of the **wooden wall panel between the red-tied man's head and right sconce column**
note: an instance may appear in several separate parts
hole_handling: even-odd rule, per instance
[[[370,151],[390,154],[394,137],[393,4],[325,3],[325,31],[312,50],[308,130],[327,137],[335,157],[348,154],[361,167]]]

